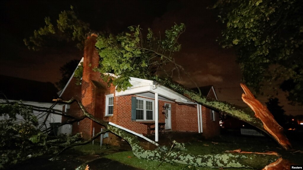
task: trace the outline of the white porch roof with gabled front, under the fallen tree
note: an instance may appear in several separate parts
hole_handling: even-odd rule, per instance
[[[158,93],[159,100],[173,101],[186,104],[197,104],[188,97],[181,95],[163,85],[156,84],[153,80],[145,80],[130,77],[130,83],[133,85],[125,91],[115,92],[115,96],[138,95],[155,99],[155,93]]]

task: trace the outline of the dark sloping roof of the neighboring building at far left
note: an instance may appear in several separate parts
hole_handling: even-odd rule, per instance
[[[40,82],[0,75],[0,98],[34,102],[49,102],[58,98],[58,89],[51,82]],[[5,96],[4,96],[4,95]]]

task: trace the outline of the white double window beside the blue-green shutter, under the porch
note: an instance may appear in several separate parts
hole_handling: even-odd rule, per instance
[[[154,101],[136,99],[136,120],[154,120]]]

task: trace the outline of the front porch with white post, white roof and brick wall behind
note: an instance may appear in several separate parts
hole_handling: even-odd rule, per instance
[[[152,80],[130,77],[130,83],[132,87],[125,91],[116,91],[115,97],[121,101],[131,100],[131,120],[134,122],[126,126],[123,123],[117,124],[148,136],[154,130],[155,142],[159,141],[159,132],[166,129],[203,132],[201,105]],[[161,123],[165,123],[165,127]],[[144,126],[146,131],[143,130]]]

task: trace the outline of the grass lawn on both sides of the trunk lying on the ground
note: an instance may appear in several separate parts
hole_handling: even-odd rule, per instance
[[[178,135],[181,137],[186,135]],[[301,136],[301,137],[300,137]],[[186,136],[188,137],[188,136]],[[290,138],[295,150],[303,151],[302,135],[295,134]],[[191,139],[191,138],[190,138]],[[276,151],[282,155],[283,159],[293,162],[292,165],[302,165],[303,153],[294,151],[284,151],[280,149],[278,144],[270,138],[266,137],[250,137],[250,136],[230,136],[224,135],[216,139],[205,140],[192,138],[190,142],[185,143],[184,152],[194,155],[219,154],[226,150],[241,149],[242,151],[250,152],[266,152]],[[174,140],[174,138],[171,138]],[[177,140],[177,139],[176,139]],[[178,141],[178,140],[177,140]],[[184,141],[184,140],[183,140]],[[186,140],[188,141],[188,140]],[[170,146],[168,146],[170,147]],[[123,151],[123,152],[122,152]],[[132,151],[121,150],[116,146],[87,144],[76,146],[68,149],[60,154],[55,160],[49,161],[54,155],[42,155],[20,162],[17,165],[12,165],[8,170],[75,170],[82,163],[88,164],[90,170],[215,170],[218,168],[203,168],[181,165],[177,163],[163,162],[160,166],[159,161],[150,161],[146,159],[138,159]],[[225,170],[248,170],[245,168],[224,168]]]

